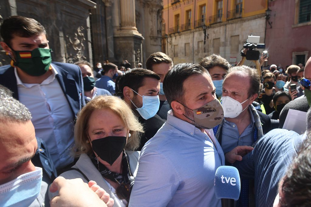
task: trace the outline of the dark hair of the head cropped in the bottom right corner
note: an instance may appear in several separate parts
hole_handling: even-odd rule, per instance
[[[311,206],[310,132],[283,178],[281,206]]]

